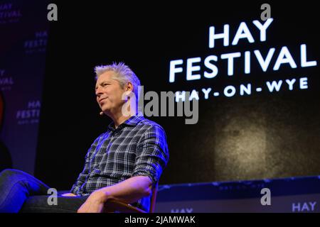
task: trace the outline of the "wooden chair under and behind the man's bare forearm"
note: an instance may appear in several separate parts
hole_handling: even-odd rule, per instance
[[[158,191],[158,183],[156,183],[156,185],[152,189],[149,213],[154,213],[154,208],[156,206],[157,191]],[[146,213],[146,211],[143,211],[142,209],[139,209],[130,204],[126,204],[117,199],[110,199],[105,203],[105,213],[117,212],[117,211],[120,213]]]

